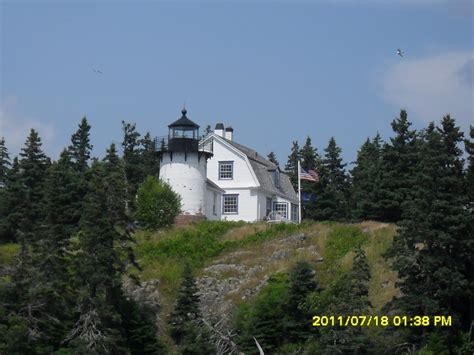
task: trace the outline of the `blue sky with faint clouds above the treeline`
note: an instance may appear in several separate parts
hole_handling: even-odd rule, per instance
[[[402,107],[416,128],[449,112],[467,131],[473,4],[2,1],[0,136],[16,154],[34,127],[55,158],[87,116],[103,156],[122,120],[163,135],[183,102],[281,163],[308,135],[320,153],[334,136],[350,162]]]

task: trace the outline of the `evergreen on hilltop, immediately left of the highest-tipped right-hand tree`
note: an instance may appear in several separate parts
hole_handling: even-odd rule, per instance
[[[367,140],[357,153],[356,166],[351,170],[351,214],[358,220],[378,220],[381,175],[381,139]]]

